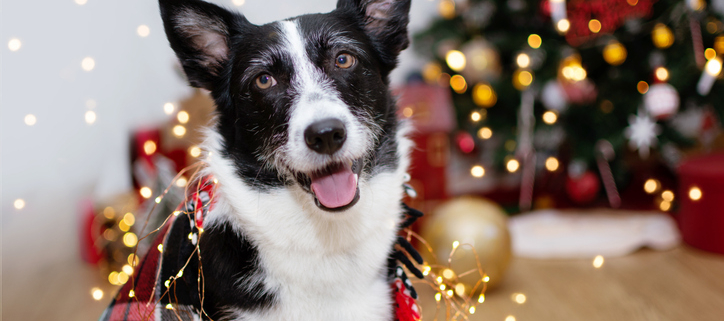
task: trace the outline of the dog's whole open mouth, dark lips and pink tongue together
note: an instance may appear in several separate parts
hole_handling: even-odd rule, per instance
[[[307,186],[317,207],[326,211],[346,210],[359,200],[361,160],[334,163],[308,174]],[[303,184],[305,185],[305,184]]]

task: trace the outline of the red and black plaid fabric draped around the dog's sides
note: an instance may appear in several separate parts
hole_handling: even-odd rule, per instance
[[[204,288],[197,245],[203,218],[214,206],[216,184],[205,177],[195,185],[196,190],[158,231],[133,277],[121,287],[99,321],[211,320],[201,308]],[[396,320],[420,320],[402,268],[397,267],[391,287]]]

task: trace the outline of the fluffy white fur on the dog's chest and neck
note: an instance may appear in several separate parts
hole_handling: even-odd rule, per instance
[[[385,272],[401,213],[402,150],[397,170],[362,179],[359,202],[341,213],[318,209],[297,186],[260,192],[241,180],[220,180],[205,224],[232,221],[257,246],[265,271],[241,282],[263,280],[278,294],[271,309],[229,312],[238,320],[392,320]],[[233,177],[229,161],[218,156],[208,171]]]

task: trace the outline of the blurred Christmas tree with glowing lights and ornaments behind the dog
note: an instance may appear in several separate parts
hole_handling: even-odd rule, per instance
[[[526,168],[596,168],[616,206],[608,189],[631,182],[632,159],[674,168],[718,135],[724,1],[441,0],[439,11],[415,35],[431,59],[423,77],[454,91],[475,142],[461,150],[520,167],[524,185]]]

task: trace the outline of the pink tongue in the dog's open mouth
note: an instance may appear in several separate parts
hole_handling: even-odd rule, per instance
[[[342,207],[354,199],[357,178],[350,167],[342,166],[331,174],[312,177],[312,191],[322,205]]]

